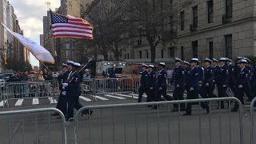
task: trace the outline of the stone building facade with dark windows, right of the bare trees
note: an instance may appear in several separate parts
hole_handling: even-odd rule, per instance
[[[180,12],[175,56],[189,60],[255,55],[255,2],[194,1]]]

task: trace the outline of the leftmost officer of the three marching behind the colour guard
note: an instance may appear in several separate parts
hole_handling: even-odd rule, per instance
[[[142,76],[141,76],[141,81],[139,83],[139,88],[138,88],[138,102],[142,102],[142,95],[146,93],[146,102],[150,102],[150,97],[147,94],[147,84],[148,84],[148,71],[146,70],[148,66],[146,64],[142,64]]]

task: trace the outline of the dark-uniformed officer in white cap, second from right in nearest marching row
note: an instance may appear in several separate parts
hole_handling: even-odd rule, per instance
[[[220,58],[219,65],[216,74],[214,74],[214,81],[217,84],[218,87],[218,97],[223,98],[227,97],[226,95],[226,89],[228,84],[228,78],[229,78],[229,71],[228,67],[225,65],[226,58]],[[224,109],[224,103],[221,102],[221,109]]]

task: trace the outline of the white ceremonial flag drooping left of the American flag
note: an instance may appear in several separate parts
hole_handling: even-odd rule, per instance
[[[38,45],[37,43],[33,42],[29,38],[25,38],[22,34],[18,34],[10,30],[8,27],[6,27],[2,22],[0,24],[10,33],[12,34],[15,38],[18,39],[19,42],[22,43],[23,46],[28,49],[35,58],[37,58],[40,62],[46,62],[46,63],[51,63],[54,64],[54,57],[50,54],[48,50],[46,50],[44,47],[41,45]]]

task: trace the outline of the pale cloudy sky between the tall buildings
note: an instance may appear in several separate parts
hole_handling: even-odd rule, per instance
[[[42,17],[46,15],[46,2],[51,2],[50,8],[55,10],[60,5],[60,0],[9,0],[14,6],[15,14],[18,17],[19,25],[24,30],[24,35],[40,44],[39,35],[42,34]],[[30,55],[30,62],[33,66],[39,63]]]

